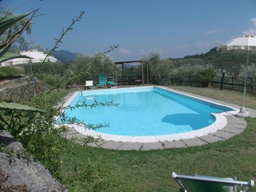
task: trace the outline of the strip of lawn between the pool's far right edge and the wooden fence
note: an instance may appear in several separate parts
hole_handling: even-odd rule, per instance
[[[169,88],[193,93],[221,101],[226,101],[233,104],[242,104],[243,93],[233,90],[220,90],[219,88],[198,88],[198,87],[185,87],[185,86],[171,86]],[[256,96],[246,94],[245,106],[247,108],[256,109]]]

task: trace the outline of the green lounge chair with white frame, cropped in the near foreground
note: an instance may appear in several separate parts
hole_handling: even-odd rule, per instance
[[[185,192],[237,192],[238,186],[246,186],[241,192],[247,192],[254,186],[254,181],[237,181],[236,177],[218,178],[207,176],[184,176],[173,173],[174,180],[181,186]],[[233,190],[234,189],[234,190]]]

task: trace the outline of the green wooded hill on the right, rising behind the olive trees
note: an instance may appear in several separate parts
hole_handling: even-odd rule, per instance
[[[173,60],[177,66],[211,64],[216,69],[226,69],[227,72],[237,74],[239,73],[240,66],[246,62],[246,54],[220,53],[217,51],[217,48],[213,48],[207,53],[187,55],[183,58],[174,58]],[[249,63],[255,62],[256,55],[251,54],[249,56]]]

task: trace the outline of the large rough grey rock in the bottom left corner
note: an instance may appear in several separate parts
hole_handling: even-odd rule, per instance
[[[24,149],[22,144],[16,142],[11,134],[5,130],[0,130],[0,144],[1,143],[12,147],[15,151]],[[0,176],[1,175],[4,179],[0,179],[0,187],[26,186],[28,191],[69,191],[68,187],[57,182],[52,177],[49,170],[41,163],[31,161],[27,164],[27,161],[22,158],[13,158],[10,161],[7,154],[0,152]]]

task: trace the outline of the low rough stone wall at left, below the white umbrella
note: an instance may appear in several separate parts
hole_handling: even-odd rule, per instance
[[[0,89],[0,100],[10,100],[11,102],[17,102],[19,100],[20,95],[27,87],[27,82],[25,83],[17,83],[11,87]],[[40,90],[40,92],[44,92],[50,88],[49,84],[42,83],[39,80],[34,82],[35,90]],[[27,91],[25,91],[22,100],[28,101],[33,97],[33,86],[29,85]]]

